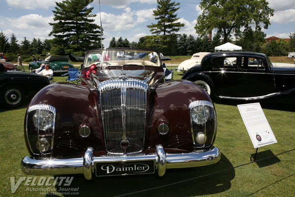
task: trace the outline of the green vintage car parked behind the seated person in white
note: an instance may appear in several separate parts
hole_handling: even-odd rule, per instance
[[[54,73],[67,72],[68,68],[73,68],[69,62],[69,56],[54,56],[42,54],[36,62],[29,63],[29,70],[37,69],[41,64],[49,64]]]

